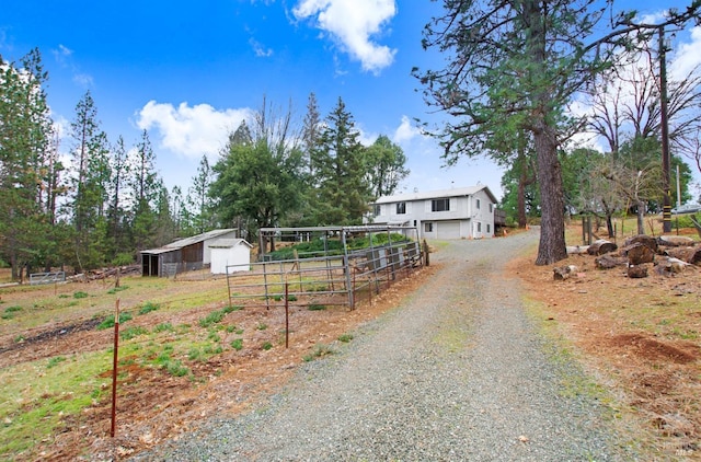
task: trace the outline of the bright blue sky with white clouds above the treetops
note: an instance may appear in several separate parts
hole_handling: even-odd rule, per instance
[[[645,14],[663,8],[634,5]],[[403,148],[412,173],[402,189],[481,182],[501,197],[493,162],[441,168],[440,149],[413,125],[439,119],[411,77],[414,66],[441,66],[421,48],[423,26],[439,13],[440,2],[428,0],[4,0],[0,54],[18,60],[39,48],[53,116],[64,126],[90,90],[111,141],[122,135],[131,146],[148,129],[169,187],[185,192],[203,154],[216,162],[227,132],[263,96],[280,111],[291,101],[301,120],[313,92],[322,117],[342,97],[365,143],[388,135]],[[677,41],[701,56],[699,36]],[[61,150],[70,147],[65,139]]]

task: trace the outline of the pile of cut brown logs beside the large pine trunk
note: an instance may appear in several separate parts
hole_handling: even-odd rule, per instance
[[[596,267],[610,269],[624,266],[628,277],[647,277],[652,267],[659,275],[680,273],[689,265],[701,264],[701,245],[690,238],[639,234],[628,239],[619,249],[613,242],[598,240],[588,246],[567,247],[567,253],[595,255]],[[559,278],[555,268],[555,278]]]

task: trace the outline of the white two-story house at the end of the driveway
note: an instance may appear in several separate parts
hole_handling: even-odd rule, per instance
[[[380,197],[372,223],[418,228],[422,239],[494,236],[496,198],[484,185]]]

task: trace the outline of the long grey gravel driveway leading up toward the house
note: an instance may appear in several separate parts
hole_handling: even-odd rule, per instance
[[[578,367],[548,353],[504,273],[537,240],[451,242],[432,254],[440,270],[428,284],[263,407],[135,460],[635,459],[605,406],[577,392],[588,380]]]

